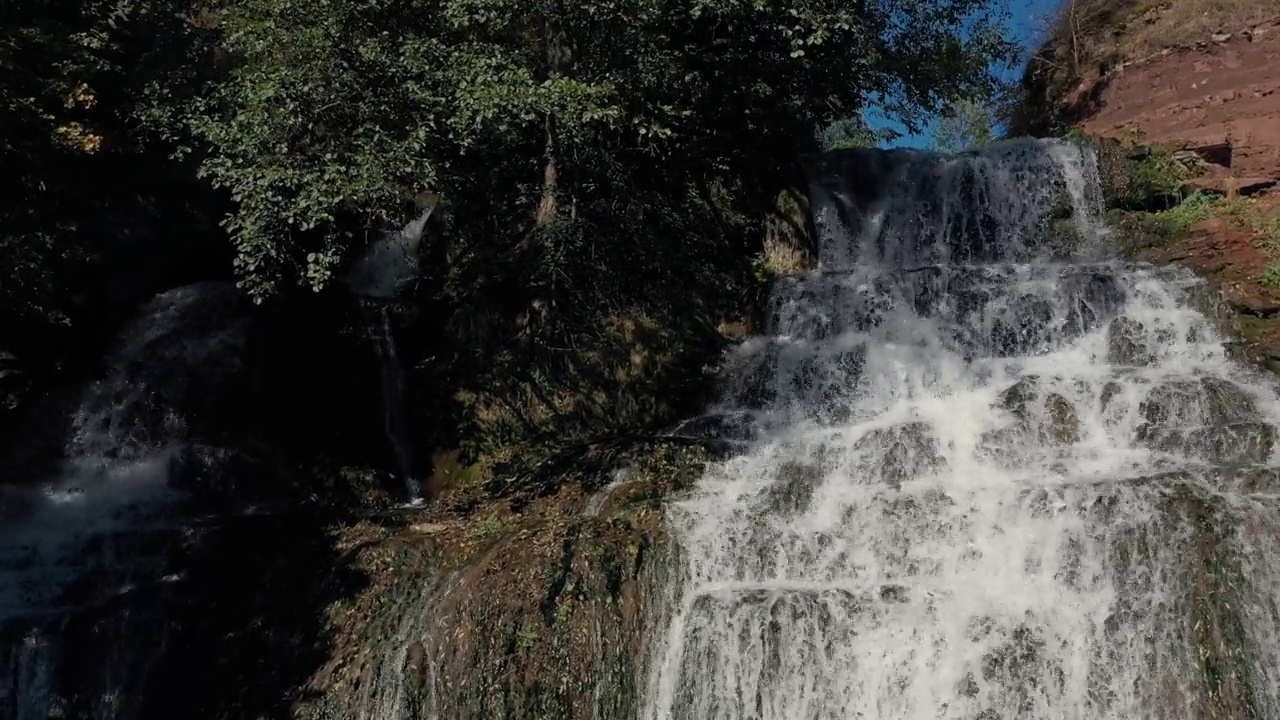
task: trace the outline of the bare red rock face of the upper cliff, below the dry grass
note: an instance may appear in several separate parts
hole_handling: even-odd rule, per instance
[[[1280,8],[1280,3],[1277,3]],[[1280,20],[1133,63],[1107,81],[1085,132],[1143,141],[1230,141],[1240,179],[1280,179]]]

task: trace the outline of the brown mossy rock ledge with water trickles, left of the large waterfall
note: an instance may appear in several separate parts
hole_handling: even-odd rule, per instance
[[[440,471],[466,474],[440,457]],[[392,697],[411,717],[635,716],[650,582],[671,547],[660,505],[710,457],[649,446],[590,516],[577,483],[518,512],[447,483],[421,511],[342,530],[369,585],[330,607],[335,651],[294,717],[387,710]]]

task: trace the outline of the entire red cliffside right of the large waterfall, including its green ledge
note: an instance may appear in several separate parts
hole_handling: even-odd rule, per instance
[[[1065,0],[1020,90],[1011,131],[1105,138],[1142,186],[1121,250],[1204,277],[1280,372],[1280,4]]]

